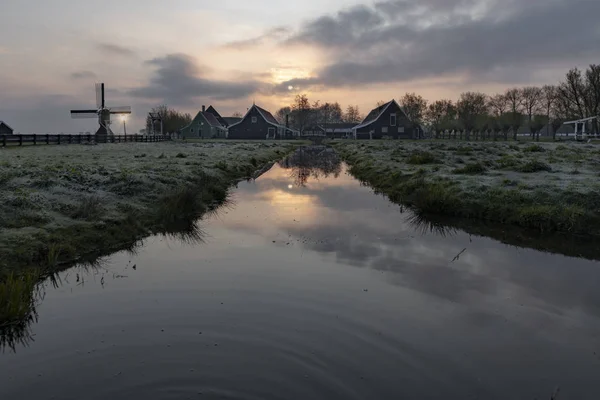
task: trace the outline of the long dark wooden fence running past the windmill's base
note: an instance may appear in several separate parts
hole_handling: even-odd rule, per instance
[[[2,135],[0,147],[91,143],[155,143],[171,140],[167,135]]]

